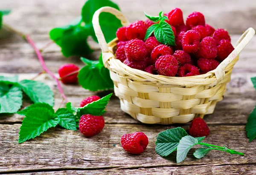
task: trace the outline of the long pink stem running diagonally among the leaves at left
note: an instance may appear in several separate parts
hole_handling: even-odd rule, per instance
[[[44,63],[44,58],[43,58],[40,50],[35,46],[34,41],[29,37],[28,34],[26,35],[26,40],[32,46],[32,48],[35,50],[35,53],[38,56],[38,60],[40,61],[44,71],[47,72],[49,75],[51,75],[52,78],[56,81],[58,89],[59,89],[59,91],[61,93],[62,98],[64,98],[64,100],[68,103],[67,97],[64,95],[64,92],[63,92],[63,90],[61,88],[61,83],[59,82],[58,78],[55,77],[55,75],[47,68],[46,64]]]

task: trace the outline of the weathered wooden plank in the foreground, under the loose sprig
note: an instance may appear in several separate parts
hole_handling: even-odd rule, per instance
[[[212,151],[203,159],[196,159],[190,152],[182,164],[175,163],[175,154],[162,158],[154,151],[157,134],[172,126],[107,124],[92,138],[83,137],[79,131],[53,128],[40,137],[18,144],[19,128],[20,124],[0,125],[0,172],[256,164],[255,142],[248,142],[244,126],[210,126],[211,133],[205,142],[225,145],[244,152],[245,156]],[[121,136],[134,131],[143,131],[148,136],[149,144],[142,155],[130,155],[120,145]]]

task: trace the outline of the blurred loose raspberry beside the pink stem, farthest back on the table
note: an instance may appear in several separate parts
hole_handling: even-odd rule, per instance
[[[61,77],[61,82],[64,84],[74,84],[77,83],[77,75],[78,73],[75,73],[73,75],[69,75],[72,72],[78,71],[79,67],[75,64],[64,64],[58,69],[59,76]],[[69,76],[67,76],[69,75]],[[67,76],[67,77],[66,77]]]

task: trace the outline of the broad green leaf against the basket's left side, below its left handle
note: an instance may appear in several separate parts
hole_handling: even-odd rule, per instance
[[[90,91],[113,89],[114,85],[110,78],[110,72],[102,63],[86,58],[81,58],[81,60],[87,64],[78,74],[78,82],[84,89]]]

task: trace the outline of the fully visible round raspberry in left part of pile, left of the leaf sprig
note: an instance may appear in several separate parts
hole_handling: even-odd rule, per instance
[[[125,45],[125,55],[128,59],[141,61],[147,53],[146,44],[142,40],[131,40]]]

